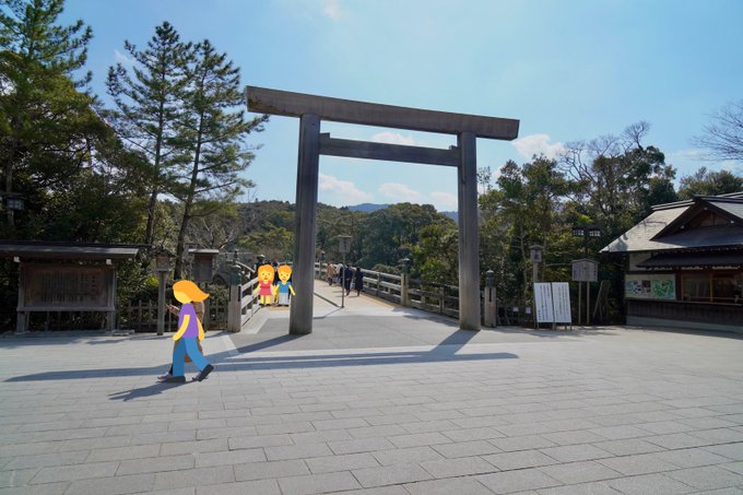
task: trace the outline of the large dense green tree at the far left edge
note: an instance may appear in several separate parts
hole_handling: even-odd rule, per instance
[[[22,192],[32,210],[47,188],[64,190],[87,158],[103,122],[73,81],[86,59],[90,27],[57,25],[62,0],[4,0],[0,5],[0,161],[4,192]],[[7,235],[15,236],[13,211]]]

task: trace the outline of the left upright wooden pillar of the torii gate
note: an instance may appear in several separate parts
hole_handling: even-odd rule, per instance
[[[294,223],[294,282],[297,296],[290,309],[288,332],[312,332],[312,264],[317,225],[317,186],[320,168],[320,118],[304,114],[299,119],[296,214]]]

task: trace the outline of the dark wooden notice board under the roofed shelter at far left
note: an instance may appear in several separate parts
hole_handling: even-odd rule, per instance
[[[22,270],[24,293],[19,297],[19,311],[115,310],[110,267],[26,263]]]

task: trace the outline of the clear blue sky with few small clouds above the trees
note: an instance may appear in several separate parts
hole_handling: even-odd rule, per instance
[[[123,40],[170,22],[208,38],[244,85],[520,119],[515,142],[477,140],[477,165],[554,153],[636,121],[679,177],[741,163],[695,160],[709,114],[743,98],[740,0],[68,0],[93,27],[87,69],[106,99]],[[323,122],[337,138],[447,148],[455,137]],[[246,175],[260,200],[294,201],[298,120],[272,117]],[[322,156],[319,200],[456,210],[456,170]]]

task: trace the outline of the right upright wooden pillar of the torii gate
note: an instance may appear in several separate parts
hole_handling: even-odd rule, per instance
[[[459,328],[480,330],[480,236],[477,232],[477,157],[474,132],[461,132],[459,192]]]

